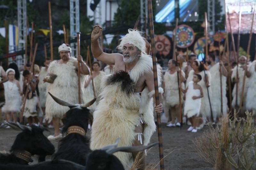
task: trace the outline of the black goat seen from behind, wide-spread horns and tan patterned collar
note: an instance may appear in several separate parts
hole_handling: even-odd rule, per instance
[[[80,165],[86,165],[86,159],[92,152],[89,147],[90,139],[85,137],[88,128],[88,121],[92,119],[89,109],[96,99],[85,105],[73,105],[54,97],[49,93],[53,100],[63,106],[70,107],[64,115],[62,133],[66,137],[59,142],[58,152],[53,155],[53,160],[65,159]]]

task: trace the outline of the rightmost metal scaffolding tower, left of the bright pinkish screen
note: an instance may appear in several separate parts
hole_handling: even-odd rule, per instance
[[[207,0],[207,20],[210,22],[209,32],[215,33],[215,0]]]

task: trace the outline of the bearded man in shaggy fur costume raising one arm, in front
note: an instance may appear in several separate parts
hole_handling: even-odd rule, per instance
[[[100,29],[99,33],[94,30]],[[129,29],[117,47],[123,51],[107,54],[99,48],[100,26],[92,31],[92,54],[107,64],[115,65],[115,73],[102,79],[101,100],[93,113],[91,149],[113,144],[120,137],[119,146],[147,145],[156,130],[153,116],[154,78],[153,64],[139,31]],[[158,69],[158,83],[161,73]],[[163,89],[159,88],[162,93]],[[162,97],[162,95],[160,95]],[[155,106],[155,105],[154,105]],[[155,106],[162,112],[162,104]],[[115,153],[125,169],[130,169],[137,153]],[[141,161],[145,166],[145,156]]]

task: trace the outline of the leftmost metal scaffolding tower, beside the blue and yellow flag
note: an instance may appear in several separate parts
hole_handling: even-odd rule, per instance
[[[17,0],[18,4],[18,50],[25,50],[26,43],[26,24],[27,24],[27,2],[26,0]],[[9,60],[12,60],[9,58]],[[10,61],[9,61],[10,62]],[[12,61],[11,61],[12,62]],[[25,55],[16,56],[16,64],[18,67],[24,65],[25,63]]]

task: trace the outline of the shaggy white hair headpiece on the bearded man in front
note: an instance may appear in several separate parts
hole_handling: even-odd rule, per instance
[[[125,44],[132,44],[139,48],[143,54],[146,54],[146,42],[140,33],[142,32],[139,30],[128,29],[128,33],[120,39],[121,42],[116,48],[122,51]]]

